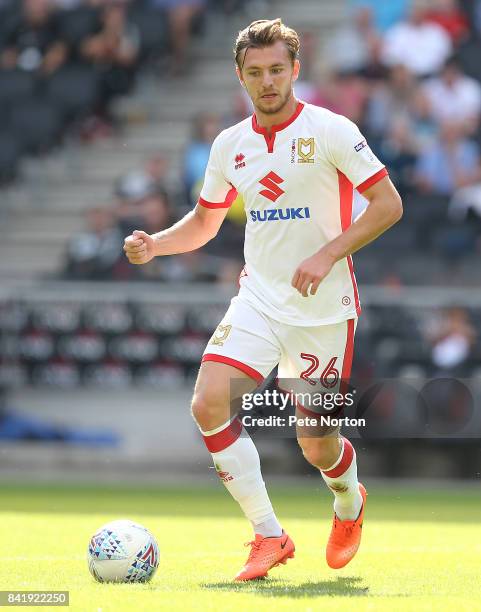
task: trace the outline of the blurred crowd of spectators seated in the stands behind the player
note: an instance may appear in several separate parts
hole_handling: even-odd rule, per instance
[[[132,90],[139,65],[186,66],[208,8],[240,0],[0,0],[0,177],[17,157],[48,150],[66,129],[109,129],[109,102]],[[369,247],[430,251],[458,261],[481,249],[481,0],[348,0],[320,48],[301,34],[299,98],[355,121],[404,198],[403,221]],[[159,231],[197,201],[216,134],[252,112],[244,92],[229,117],[199,112],[169,193],[167,156],[119,178],[113,199],[72,238],[64,275],[81,279],[233,280],[242,267],[242,200],[202,254],[126,264],[134,227]],[[11,164],[9,165],[9,163]],[[356,194],[355,212],[366,205]]]

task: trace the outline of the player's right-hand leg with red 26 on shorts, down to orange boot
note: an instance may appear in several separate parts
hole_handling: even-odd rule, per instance
[[[319,386],[326,393],[345,392],[351,375],[355,327],[356,321],[351,319],[317,328],[298,327],[294,333],[289,330],[283,338],[280,386],[289,386],[289,378],[302,377],[303,390],[309,387],[310,381],[317,382],[315,392]],[[298,404],[296,412],[297,439],[304,457],[320,471],[334,494],[334,521],[327,560],[331,567],[342,567],[359,547],[364,513],[365,490],[357,477],[356,452],[349,440],[340,435],[337,426],[321,425],[318,420],[315,426],[301,424],[306,416],[311,419],[316,415],[340,416],[335,410]]]

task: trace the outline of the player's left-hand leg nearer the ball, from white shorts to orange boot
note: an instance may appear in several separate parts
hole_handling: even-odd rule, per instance
[[[255,540],[237,580],[266,576],[294,553],[272,508],[254,442],[232,413],[239,393],[251,392],[277,364],[279,354],[265,317],[233,301],[207,345],[192,400],[192,414],[217,473],[254,528]]]

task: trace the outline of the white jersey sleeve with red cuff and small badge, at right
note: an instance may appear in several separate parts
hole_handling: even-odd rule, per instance
[[[327,147],[331,162],[362,193],[388,172],[369,148],[355,123],[334,115],[327,129]]]

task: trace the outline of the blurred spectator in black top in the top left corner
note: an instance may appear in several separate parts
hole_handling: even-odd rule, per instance
[[[68,49],[61,39],[59,24],[50,0],[23,0],[2,25],[2,68],[20,68],[52,74],[66,61]]]

